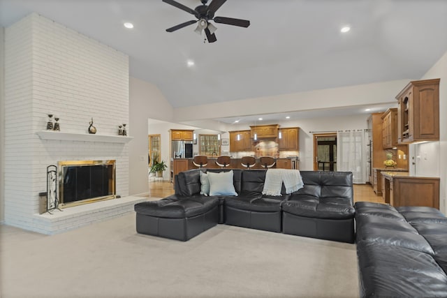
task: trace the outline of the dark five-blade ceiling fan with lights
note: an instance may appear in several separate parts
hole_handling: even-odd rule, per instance
[[[216,34],[214,34],[214,31],[216,31],[217,28],[214,27],[214,25],[211,24],[210,21],[245,28],[250,26],[250,21],[248,20],[233,19],[232,17],[214,17],[214,13],[216,13],[216,10],[218,10],[222,6],[222,4],[226,2],[226,0],[212,0],[210,2],[210,5],[207,5],[208,0],[200,1],[202,2],[202,5],[191,9],[174,0],[163,0],[163,2],[180,8],[181,10],[186,11],[186,13],[191,13],[191,15],[194,15],[198,19],[178,24],[177,26],[166,29],[166,31],[173,32],[175,30],[182,29],[183,27],[197,23],[197,28],[194,31],[199,34],[201,34],[202,31],[205,31],[208,43],[214,43],[217,40]]]

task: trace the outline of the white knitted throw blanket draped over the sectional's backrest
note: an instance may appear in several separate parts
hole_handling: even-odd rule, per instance
[[[263,195],[281,195],[283,182],[286,193],[293,193],[304,187],[300,170],[268,169],[265,173]]]

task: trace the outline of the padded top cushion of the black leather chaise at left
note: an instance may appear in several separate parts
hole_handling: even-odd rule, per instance
[[[148,216],[187,218],[204,214],[218,204],[218,198],[205,197],[203,195],[195,195],[191,197],[170,195],[163,200],[135,204],[134,209],[138,214],[145,214]]]

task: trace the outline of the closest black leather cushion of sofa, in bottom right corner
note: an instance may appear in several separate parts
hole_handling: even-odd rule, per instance
[[[447,297],[447,276],[427,253],[357,244],[361,297]]]

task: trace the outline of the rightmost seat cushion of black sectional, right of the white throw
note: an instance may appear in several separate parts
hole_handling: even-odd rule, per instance
[[[282,203],[290,214],[325,219],[353,218],[356,213],[349,198],[317,198],[312,195],[292,194]]]

